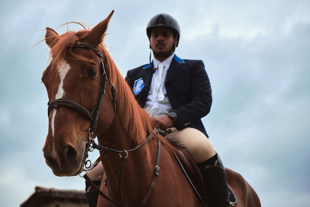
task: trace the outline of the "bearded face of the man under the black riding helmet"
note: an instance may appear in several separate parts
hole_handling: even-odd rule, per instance
[[[155,27],[151,33],[150,44],[156,59],[171,56],[174,52],[174,45],[176,44],[172,29]]]

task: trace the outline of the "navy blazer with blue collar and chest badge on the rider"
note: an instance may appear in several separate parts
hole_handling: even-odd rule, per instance
[[[125,78],[142,108],[149,94],[154,71],[152,62],[128,70]],[[210,111],[212,95],[203,61],[182,60],[174,55],[167,71],[165,88],[172,111],[177,114],[179,130],[192,127],[208,137],[201,118]]]

